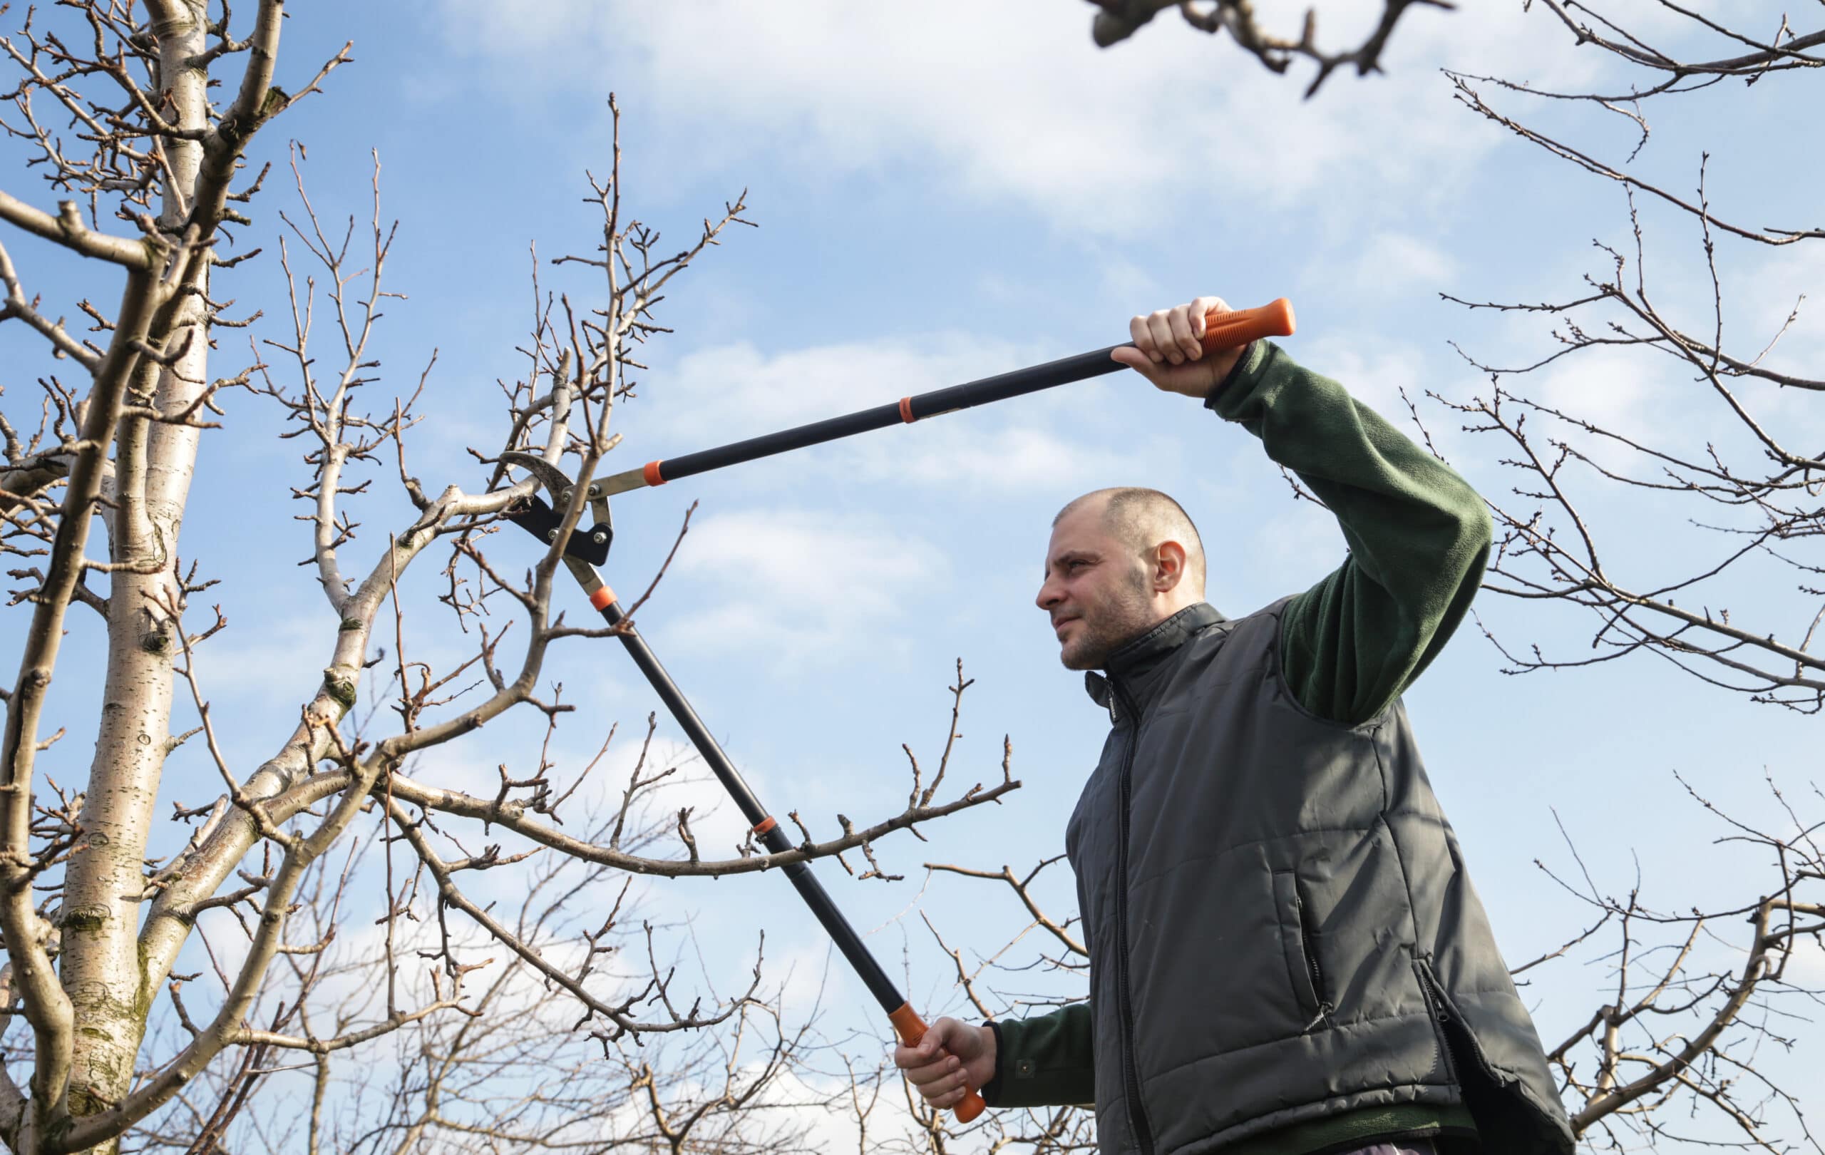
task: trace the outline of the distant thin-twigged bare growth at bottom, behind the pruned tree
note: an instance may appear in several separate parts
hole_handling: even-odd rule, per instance
[[[670,841],[673,821],[655,816],[624,832],[624,845]],[[593,834],[608,838],[608,830]],[[301,905],[299,918],[319,942],[334,940],[336,925],[349,925],[334,920],[338,907],[352,901],[356,870],[349,867],[360,869],[378,838],[354,843],[341,872],[314,878],[341,894],[334,901],[310,894]],[[642,910],[646,903],[630,896],[630,879],[620,876],[617,885],[617,874],[577,858],[531,859],[518,872],[526,900],[507,925],[548,958],[586,958],[624,980],[637,976],[630,971],[637,963],[620,952],[633,960],[644,954],[653,927],[622,934],[620,925],[661,914]],[[580,901],[597,887],[619,896],[606,920]],[[394,929],[396,954],[436,945],[436,931],[423,923],[400,920],[389,923]],[[467,938],[471,947],[487,947],[482,936]],[[380,1018],[376,1004],[391,1005],[409,987],[387,954],[343,943],[290,958],[268,978],[276,1018],[328,1022],[338,1033]],[[805,1062],[808,1024],[787,1031],[777,1007],[754,998],[717,1029],[604,1047],[573,1029],[577,1005],[549,998],[549,989],[531,963],[507,958],[476,969],[460,1005],[402,1024],[367,1044],[358,1062],[339,1062],[349,1053],[287,1062],[285,1051],[268,1044],[241,1047],[186,1087],[177,1109],[137,1124],[126,1140],[146,1151],[807,1150],[808,1113],[796,1108],[816,1100],[792,1075]],[[159,1025],[166,1035],[182,1033],[172,1016],[161,1016]],[[287,1082],[292,1069],[297,1075]]]

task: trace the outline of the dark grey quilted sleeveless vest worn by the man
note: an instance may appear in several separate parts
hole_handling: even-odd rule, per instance
[[[1405,710],[1299,706],[1283,606],[1192,606],[1088,675],[1113,728],[1066,850],[1100,1155],[1460,1102],[1489,1155],[1571,1151]]]

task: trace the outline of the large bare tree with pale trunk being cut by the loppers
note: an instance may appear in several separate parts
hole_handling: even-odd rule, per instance
[[[606,821],[566,825],[582,808],[566,803],[595,763],[562,781],[564,768],[548,757],[549,734],[571,706],[560,692],[540,695],[540,671],[553,646],[610,631],[562,617],[562,538],[542,555],[520,555],[538,560],[513,577],[507,558],[522,542],[511,527],[498,547],[491,535],[531,496],[533,482],[513,480],[498,454],[566,460],[584,484],[595,474],[615,445],[611,416],[641,369],[639,345],[666,332],[655,314],[664,286],[725,230],[748,224],[746,204],[725,204],[684,250],[666,255],[655,248],[659,232],[624,212],[617,130],[608,179],[591,179],[599,245],[560,259],[600,277],[591,299],[540,297],[526,374],[504,385],[495,451],[474,451],[467,487],[423,484],[407,469],[405,449],[436,396],[431,365],[409,396],[363,409],[380,381],[370,338],[381,305],[396,296],[383,279],[392,228],[380,213],[378,161],[370,219],[356,228],[350,215],[338,230],[305,195],[303,148],[294,150],[303,213],[285,217],[277,254],[292,286],[288,316],[279,310],[287,330],[256,328],[248,356],[217,367],[230,356],[223,338],[261,317],[237,314],[228,294],[235,268],[261,252],[230,255],[230,243],[259,228],[248,213],[272,164],[248,175],[265,130],[350,60],[345,46],[281,88],[281,71],[290,75],[279,51],[285,18],[283,0],[261,0],[250,18],[201,0],[82,0],[27,9],[18,31],[0,38],[16,77],[0,122],[60,197],[53,212],[36,206],[38,197],[0,192],[0,219],[78,257],[93,285],[77,303],[84,321],[71,323],[0,248],[0,323],[35,330],[57,361],[75,365],[42,376],[36,394],[13,383],[0,429],[4,549],[20,622],[7,635],[16,675],[4,692],[0,746],[0,1005],[15,1027],[0,1078],[0,1140],[33,1155],[117,1150],[128,1135],[148,1148],[219,1150],[237,1117],[256,1133],[277,1126],[283,1111],[248,1102],[276,1086],[272,1075],[301,1064],[316,1075],[312,1150],[454,1150],[469,1142],[460,1135],[478,1150],[549,1139],[631,1104],[630,1095],[646,1104],[637,1111],[650,1122],[646,1135],[683,1150],[694,1133],[726,1131],[730,1113],[790,1064],[799,1035],[772,1024],[761,1047],[770,1058],[757,1075],[730,1058],[723,1091],[710,1093],[699,1078],[704,1056],[717,1047],[735,1055],[739,1040],[743,1055],[756,1055],[768,1020],[759,956],[746,991],[686,998],[673,991],[652,929],[644,949],[630,951],[644,963],[604,965],[641,936],[624,942],[619,907],[606,920],[579,910],[579,889],[615,872],[704,878],[867,852],[874,839],[1018,783],[1004,775],[951,801],[934,801],[933,783],[914,790],[902,814],[860,828],[845,821],[843,834],[825,841],[807,830],[803,847],[774,856],[752,839],[732,858],[703,856],[692,810],[679,808],[661,828],[666,845],[677,838],[681,848],[661,856],[653,806],[677,781],[677,765],[642,754]],[[217,100],[217,84],[232,97]],[[316,272],[299,274],[294,259]],[[310,575],[338,622],[319,639],[328,653],[321,681],[301,686],[297,713],[277,721],[219,719],[193,662],[224,628],[219,613],[195,620],[190,600],[214,582],[199,577],[208,549],[186,555],[182,538],[197,447],[223,427],[212,418],[223,416],[224,390],[268,398],[288,420],[285,436],[307,445],[308,476],[292,496],[308,505],[301,520],[310,527]],[[365,494],[374,478],[361,474],[381,469],[389,453],[396,469],[387,473],[414,513],[385,535],[358,538],[350,504],[372,500]],[[582,504],[579,493],[564,509],[568,525]],[[281,494],[274,520],[283,507]],[[91,544],[97,520],[108,560]],[[210,540],[212,527],[203,529]],[[412,608],[402,591],[427,555],[443,558],[442,608]],[[73,670],[62,642],[69,615],[86,611],[104,620],[104,659]],[[467,659],[434,668],[412,657],[407,624],[427,611],[447,615],[445,626],[469,639]],[[36,768],[66,732],[51,730],[68,708],[53,695],[53,675],[102,682],[95,755],[77,785]],[[518,777],[500,768],[496,794],[416,775],[429,766],[420,761],[427,752],[509,712],[540,712],[548,737]],[[224,724],[265,730],[259,766],[230,763],[219,741]],[[221,775],[214,801],[170,797],[162,770],[186,743],[203,744]],[[177,854],[150,854],[166,805],[195,830]],[[358,839],[363,817],[374,830]],[[473,894],[493,870],[520,872],[516,909]],[[376,914],[380,932],[354,932]],[[177,973],[181,954],[195,956],[199,945],[206,971]],[[553,1035],[560,1020],[564,1031]],[[622,1049],[648,1036],[699,1035],[703,1042],[673,1049],[679,1066],[670,1071]],[[418,1049],[416,1058],[405,1051],[391,1091],[369,1087],[385,1109],[327,1108],[338,1056],[372,1053],[387,1036],[416,1038]],[[524,1047],[549,1067],[577,1064],[579,1040],[599,1060],[622,1064],[619,1097],[553,1098],[533,1077],[480,1087],[504,1053],[496,1047]],[[593,1078],[602,1086],[608,1075]],[[673,1091],[695,1100],[681,1109]],[[526,1098],[500,1115],[498,1135],[476,1131],[476,1119],[513,1093]],[[285,1135],[268,1133],[268,1142],[288,1148]],[[765,1137],[756,1135],[752,1142]],[[792,1142],[790,1131],[774,1139]]]

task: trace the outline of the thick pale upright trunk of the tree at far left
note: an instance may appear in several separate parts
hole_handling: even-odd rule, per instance
[[[159,95],[181,128],[203,130],[206,73],[188,62],[204,44],[203,4],[184,0],[153,26],[159,36]],[[203,146],[168,140],[172,182],[159,224],[184,228]],[[199,288],[206,292],[206,274]],[[146,361],[130,405],[181,411],[206,387],[208,334],[203,301],[182,303],[168,349],[186,352],[170,369]],[[175,575],[177,535],[197,458],[195,425],[124,416],[117,429],[115,500],[110,524],[108,677],[102,692],[95,759],[82,808],[84,850],[66,876],[60,971],[77,1016],[69,1073],[69,1113],[82,1117],[117,1104],[133,1078],[153,991],[139,963],[139,910],[146,889],[142,861],[172,750],[173,653],[181,650],[172,609],[182,608]],[[93,1150],[115,1150],[117,1144]]]

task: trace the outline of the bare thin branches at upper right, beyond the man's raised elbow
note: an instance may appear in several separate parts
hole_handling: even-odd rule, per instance
[[[1747,213],[1739,210],[1719,215],[1705,188],[1708,153],[1699,157],[1695,190],[1690,193],[1674,190],[1664,181],[1635,175],[1630,161],[1648,144],[1650,100],[1655,102],[1652,108],[1672,97],[1692,100],[1690,93],[1730,80],[1745,86],[1814,80],[1810,73],[1825,69],[1825,57],[1809,49],[1825,46],[1825,29],[1796,36],[1783,26],[1763,40],[1686,16],[1692,26],[1714,31],[1717,49],[1730,55],[1679,60],[1613,24],[1579,22],[1559,4],[1544,7],[1568,26],[1577,44],[1626,62],[1641,73],[1641,80],[1626,93],[1548,93],[1509,80],[1447,75],[1465,108],[1546,153],[1615,182],[1626,197],[1632,243],[1624,248],[1599,241],[1602,268],[1588,274],[1579,290],[1559,301],[1511,305],[1445,297],[1467,308],[1559,317],[1560,323],[1553,330],[1557,349],[1531,365],[1498,369],[1467,356],[1487,374],[1491,392],[1486,398],[1449,401],[1455,412],[1473,421],[1478,434],[1502,442],[1504,453],[1517,454],[1515,467],[1524,478],[1520,485],[1528,487],[1517,491],[1520,505],[1495,505],[1502,535],[1489,588],[1506,597],[1577,606],[1597,624],[1591,637],[1593,657],[1504,653],[1515,670],[1653,655],[1719,688],[1816,713],[1825,706],[1825,657],[1814,650],[1820,622],[1825,620],[1825,591],[1816,580],[1820,560],[1807,551],[1825,536],[1825,511],[1816,504],[1820,482],[1814,476],[1825,471],[1825,456],[1805,443],[1790,443],[1796,438],[1779,425],[1779,418],[1763,414],[1783,394],[1805,403],[1807,394],[1825,390],[1825,381],[1774,367],[1779,359],[1776,347],[1799,317],[1803,296],[1792,301],[1785,319],[1750,319],[1752,330],[1741,338],[1736,336],[1736,325],[1728,325],[1730,341],[1745,341],[1748,347],[1726,347],[1728,307],[1719,266],[1736,254],[1743,254],[1739,259],[1747,263],[1743,248],[1825,241],[1825,230],[1747,226],[1741,224]],[[1670,4],[1666,7],[1683,11]],[[1741,47],[1750,51],[1736,51]],[[1535,97],[1535,108],[1538,99],[1568,100],[1626,117],[1637,128],[1639,140],[1626,161],[1602,159],[1502,113],[1482,95],[1491,86],[1502,93]],[[1655,285],[1650,277],[1655,230],[1644,223],[1639,203],[1661,210],[1663,219],[1674,226],[1683,219],[1697,230],[1692,241],[1703,255],[1703,276],[1710,285],[1708,301],[1699,305],[1703,314],[1694,316],[1697,310],[1677,297],[1675,285]],[[1675,248],[1663,254],[1655,266],[1677,261]],[[1661,288],[1666,292],[1659,292]],[[1624,350],[1632,354],[1632,363],[1690,374],[1714,407],[1710,420],[1703,421],[1706,436],[1677,440],[1661,434],[1650,440],[1652,434],[1608,429],[1579,412],[1544,405],[1511,383],[1526,383],[1528,374],[1538,374],[1548,365],[1599,350]],[[1659,372],[1644,370],[1642,376],[1663,389],[1674,389],[1661,385],[1664,376]],[[1679,400],[1683,398],[1663,398],[1659,405],[1668,407]],[[1529,416],[1535,425],[1546,425],[1544,434],[1528,429]],[[1679,509],[1692,509],[1688,516],[1699,531],[1699,544],[1714,546],[1708,549],[1714,562],[1694,571],[1619,578],[1602,549],[1602,535],[1580,515],[1580,489],[1597,491],[1593,500],[1663,494]],[[1664,515],[1655,518],[1668,527],[1679,524],[1679,518]],[[1788,582],[1794,582],[1799,606],[1772,597]],[[1745,589],[1757,595],[1759,604],[1752,611],[1757,620],[1745,622],[1739,613],[1732,622],[1723,598],[1734,600],[1732,595]],[[1799,611],[1798,617],[1788,617],[1794,609]]]

